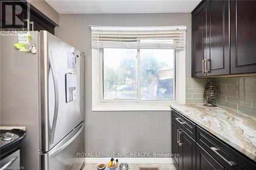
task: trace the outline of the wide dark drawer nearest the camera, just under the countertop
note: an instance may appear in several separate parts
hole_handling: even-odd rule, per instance
[[[256,169],[255,162],[198,126],[197,143],[226,169]]]

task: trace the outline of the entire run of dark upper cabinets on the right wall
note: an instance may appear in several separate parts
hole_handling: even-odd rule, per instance
[[[256,1],[202,1],[192,12],[192,77],[256,72],[255,14]]]

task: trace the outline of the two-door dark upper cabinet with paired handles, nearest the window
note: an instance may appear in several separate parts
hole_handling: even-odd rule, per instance
[[[202,1],[192,12],[192,77],[228,75],[229,2]]]

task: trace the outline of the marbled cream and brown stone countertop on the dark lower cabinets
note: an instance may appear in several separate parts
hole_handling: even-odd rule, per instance
[[[256,115],[202,104],[172,104],[170,107],[256,161]]]

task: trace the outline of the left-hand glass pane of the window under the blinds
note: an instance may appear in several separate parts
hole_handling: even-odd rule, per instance
[[[103,49],[103,99],[137,98],[137,49]]]

